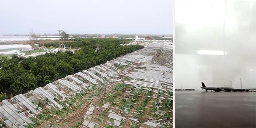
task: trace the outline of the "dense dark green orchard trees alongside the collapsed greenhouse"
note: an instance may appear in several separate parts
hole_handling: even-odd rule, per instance
[[[127,39],[85,38],[64,42],[65,47],[80,47],[73,52],[47,53],[36,58],[12,59],[0,57],[0,92],[11,97],[13,94],[52,83],[59,78],[103,64],[113,58],[126,55],[143,48],[140,45],[121,46],[129,43]],[[46,43],[46,47],[59,47],[59,43]],[[96,47],[99,50],[95,52]],[[126,68],[126,67],[125,67]]]

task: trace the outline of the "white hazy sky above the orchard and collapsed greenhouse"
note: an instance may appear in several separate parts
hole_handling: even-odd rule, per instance
[[[0,34],[173,33],[172,0],[1,0]]]

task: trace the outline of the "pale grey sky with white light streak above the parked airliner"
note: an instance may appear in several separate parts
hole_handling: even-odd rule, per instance
[[[244,88],[256,87],[255,4],[251,0],[176,2],[176,88],[198,89],[201,81],[226,87],[232,81],[233,88],[240,88],[239,78]]]

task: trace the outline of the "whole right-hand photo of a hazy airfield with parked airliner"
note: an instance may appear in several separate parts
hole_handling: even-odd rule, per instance
[[[175,0],[175,127],[256,128],[255,16],[255,0]]]

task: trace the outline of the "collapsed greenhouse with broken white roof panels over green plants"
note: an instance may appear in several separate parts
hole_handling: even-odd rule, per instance
[[[1,124],[13,128],[172,127],[172,57],[171,43],[160,41],[3,100]],[[79,111],[72,111],[75,107]],[[58,116],[57,112],[66,110],[71,113]]]

